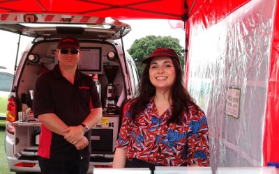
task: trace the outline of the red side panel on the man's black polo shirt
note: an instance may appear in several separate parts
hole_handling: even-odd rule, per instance
[[[39,148],[38,155],[50,159],[50,145],[52,143],[52,132],[47,129],[43,124],[40,125],[40,138],[39,138]]]

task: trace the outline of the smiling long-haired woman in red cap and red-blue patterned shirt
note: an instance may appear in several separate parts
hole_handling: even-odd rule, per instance
[[[138,97],[123,107],[113,167],[209,166],[206,116],[184,87],[179,56],[158,48],[142,63]]]

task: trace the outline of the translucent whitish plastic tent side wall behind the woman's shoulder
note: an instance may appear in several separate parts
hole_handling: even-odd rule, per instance
[[[188,90],[208,118],[213,168],[263,166],[275,5],[252,0],[207,28],[188,20]],[[238,118],[225,113],[229,87],[240,89]]]

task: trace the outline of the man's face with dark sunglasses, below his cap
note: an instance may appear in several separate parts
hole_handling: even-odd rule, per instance
[[[63,68],[76,68],[80,61],[79,49],[58,49],[56,57]]]

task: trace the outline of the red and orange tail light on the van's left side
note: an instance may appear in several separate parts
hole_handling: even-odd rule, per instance
[[[7,106],[7,113],[6,113],[6,129],[10,134],[15,132],[15,127],[9,124],[9,122],[15,122],[17,120],[17,102],[15,101],[14,97],[8,98],[8,106]]]

